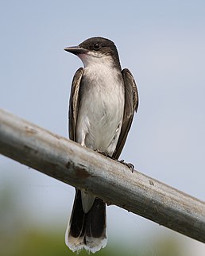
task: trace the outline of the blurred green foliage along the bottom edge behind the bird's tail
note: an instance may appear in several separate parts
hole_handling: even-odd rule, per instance
[[[64,243],[62,232],[33,230],[18,234],[16,239],[5,241],[1,246],[0,256],[75,256]],[[79,256],[87,256],[85,250]],[[126,246],[106,246],[96,256],[182,256],[177,242],[172,239],[161,239],[153,246],[129,249]]]

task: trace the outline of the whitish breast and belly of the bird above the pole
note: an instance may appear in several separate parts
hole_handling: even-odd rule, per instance
[[[84,69],[76,127],[77,142],[81,145],[110,156],[114,153],[124,113],[122,81],[114,69]]]

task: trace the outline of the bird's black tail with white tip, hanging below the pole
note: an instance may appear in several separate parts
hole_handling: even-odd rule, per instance
[[[81,192],[76,189],[72,216],[65,234],[66,245],[79,253],[83,248],[95,253],[106,246],[106,204],[95,198],[91,210],[85,213]]]

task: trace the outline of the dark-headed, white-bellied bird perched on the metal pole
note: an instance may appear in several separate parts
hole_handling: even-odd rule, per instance
[[[118,160],[139,102],[133,75],[121,68],[118,50],[107,38],[91,37],[64,50],[83,62],[72,80],[69,138]],[[106,242],[106,203],[75,188],[66,245],[76,253],[83,249],[95,253]]]

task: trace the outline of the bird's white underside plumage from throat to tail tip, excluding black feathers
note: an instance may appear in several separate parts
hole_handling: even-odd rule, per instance
[[[110,56],[91,58],[80,56],[85,65],[81,84],[81,95],[76,139],[81,145],[97,149],[110,156],[114,153],[122,127],[124,113],[124,84],[117,69],[113,68]],[[95,200],[94,196],[82,192],[83,210],[87,212]],[[79,253],[83,248],[95,253],[106,246],[106,231],[101,238],[73,238],[69,235],[69,224],[65,235],[67,246]]]

